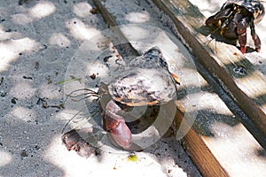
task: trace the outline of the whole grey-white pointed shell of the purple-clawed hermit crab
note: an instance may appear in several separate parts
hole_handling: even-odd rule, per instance
[[[176,82],[158,47],[133,59],[108,85],[113,100],[129,106],[166,104],[176,99]]]

